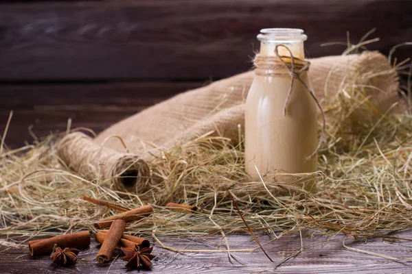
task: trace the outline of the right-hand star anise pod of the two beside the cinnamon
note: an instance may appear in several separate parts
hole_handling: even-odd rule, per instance
[[[121,247],[124,256],[120,259],[127,261],[126,267],[133,269],[133,268],[140,268],[140,265],[144,267],[149,267],[152,265],[152,260],[156,256],[152,253],[153,247],[146,247],[144,249],[140,249],[139,245],[136,245],[134,249],[130,247]]]

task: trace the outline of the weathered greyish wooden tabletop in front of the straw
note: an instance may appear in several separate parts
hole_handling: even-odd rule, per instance
[[[412,231],[402,232],[396,236],[412,238]],[[220,236],[207,238],[171,238],[160,237],[163,244],[177,249],[220,249],[225,250]],[[154,244],[154,259],[150,273],[412,273],[412,262],[395,262],[378,256],[358,253],[343,248],[344,237],[327,237],[319,234],[304,233],[304,249],[295,258],[280,264],[284,258],[293,255],[301,247],[299,234],[284,236],[273,240],[268,235],[260,237],[260,241],[269,242],[264,247],[274,260],[271,263],[257,250],[249,252],[233,252],[229,260],[226,252],[216,253],[174,253],[161,249]],[[251,236],[228,236],[231,249],[256,247]],[[395,258],[411,257],[410,242],[407,240],[372,239],[361,242],[346,240],[349,247],[385,254]],[[27,250],[7,249],[0,247],[0,273],[126,273],[125,262],[115,260],[113,263],[98,264],[93,259],[98,253],[98,245],[92,240],[89,249],[80,251],[79,258],[87,258],[91,262],[77,262],[76,265],[62,269],[52,264],[47,256],[31,258]],[[115,254],[117,256],[118,253]],[[18,259],[16,259],[18,258]],[[280,265],[279,265],[280,264]],[[146,273],[147,271],[142,271]]]

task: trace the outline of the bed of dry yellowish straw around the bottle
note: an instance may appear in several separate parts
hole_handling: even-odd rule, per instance
[[[247,232],[225,188],[251,229],[274,238],[307,228],[355,238],[410,228],[412,117],[391,112],[396,105],[380,112],[365,88],[342,85],[336,97],[323,101],[329,119],[319,171],[301,175],[317,180],[317,192],[293,189],[278,195],[290,187],[273,180],[245,182],[242,145],[207,135],[161,150],[161,157],[150,162],[150,187],[139,194],[122,192],[111,188],[111,177],[91,180],[61,166],[60,138],[49,136],[37,145],[2,151],[0,234],[20,243],[14,237],[94,230],[93,223],[118,213],[82,200],[84,195],[124,208],[157,205],[151,216],[129,223],[128,234]],[[196,204],[198,211],[174,212],[163,207],[169,202]]]

